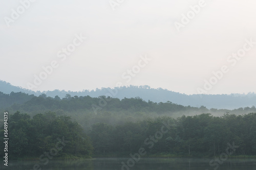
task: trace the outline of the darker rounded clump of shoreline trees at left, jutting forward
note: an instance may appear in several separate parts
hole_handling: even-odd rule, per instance
[[[37,114],[30,118],[19,112],[8,114],[8,156],[10,159],[91,156],[93,147],[81,126],[68,116],[56,116],[53,112]],[[1,126],[1,138],[4,137]],[[5,148],[1,142],[0,147]],[[1,152],[3,153],[3,152]],[[1,154],[2,155],[2,154]],[[48,158],[49,158],[48,157]]]

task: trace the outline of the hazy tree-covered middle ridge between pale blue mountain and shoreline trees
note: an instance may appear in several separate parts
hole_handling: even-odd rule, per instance
[[[22,102],[23,101],[23,102]],[[1,107],[2,106],[2,107]],[[256,108],[245,107],[234,110],[227,109],[207,109],[204,106],[201,107],[190,107],[182,106],[172,102],[156,103],[152,101],[143,101],[141,98],[124,98],[122,100],[117,98],[111,98],[106,96],[99,96],[98,98],[92,98],[91,96],[71,96],[67,94],[65,98],[60,99],[59,96],[55,98],[47,97],[46,94],[40,96],[28,95],[25,93],[11,93],[3,94],[0,93],[0,108],[7,109],[15,112],[16,110],[24,111],[27,113],[36,113],[36,111],[91,111],[97,114],[102,111],[111,112],[154,112],[156,114],[163,113],[234,113],[234,114],[245,114],[250,112],[256,112]]]

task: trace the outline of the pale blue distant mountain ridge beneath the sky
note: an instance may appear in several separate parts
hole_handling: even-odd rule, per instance
[[[96,90],[83,90],[83,91],[65,91],[65,90],[53,90],[53,91],[32,91],[22,87],[13,86],[5,81],[0,81],[0,91],[6,94],[13,92],[24,92],[27,94],[34,94],[39,96],[45,93],[47,96],[54,98],[58,95],[60,98],[65,98],[66,94],[71,96],[91,96],[93,98],[98,96],[111,96],[113,98],[136,98],[139,96],[144,101],[152,102],[167,102],[176,103],[183,106],[200,107],[205,106],[207,108],[217,109],[236,109],[256,106],[256,94],[193,94],[187,95],[179,92],[169,91],[167,89],[154,89],[150,86],[127,86],[116,88],[101,88]]]

